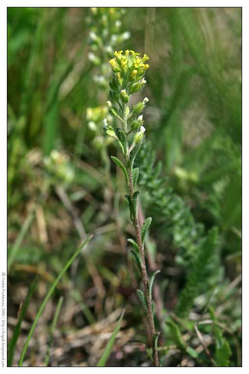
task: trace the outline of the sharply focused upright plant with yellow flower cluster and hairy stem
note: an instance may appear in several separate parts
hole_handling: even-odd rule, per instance
[[[158,367],[157,340],[159,334],[155,331],[155,303],[152,300],[152,285],[159,271],[155,272],[150,279],[148,278],[144,257],[144,239],[152,218],[146,218],[143,226],[140,228],[138,221],[140,191],[135,190],[139,169],[133,168],[134,160],[142,144],[145,132],[143,118],[140,113],[148,102],[148,98],[145,97],[142,102],[138,102],[132,107],[130,105],[132,94],[142,90],[146,83],[144,73],[149,65],[144,62],[148,60],[148,56],[143,55],[141,58],[139,53],[129,50],[124,53],[123,51],[115,52],[114,55],[115,58],[110,60],[113,75],[109,76],[111,91],[110,100],[107,103],[111,115],[121,122],[121,128],[114,124],[109,125],[107,119],[104,119],[103,129],[108,136],[118,141],[124,156],[124,163],[114,156],[111,158],[123,171],[129,187],[129,194],[126,195],[126,198],[130,207],[130,217],[136,232],[136,241],[133,239],[128,240],[133,245],[134,250],[131,252],[143,281],[144,291],[137,290],[137,293],[148,318],[152,343],[152,360],[154,366]]]

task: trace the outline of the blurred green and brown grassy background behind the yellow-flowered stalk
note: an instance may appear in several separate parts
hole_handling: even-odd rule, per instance
[[[61,294],[53,344],[67,348],[51,353],[51,366],[95,366],[108,339],[101,336],[112,325],[99,327],[98,336],[92,327],[89,339],[79,335],[79,345],[70,342],[95,321],[113,315],[115,322],[124,307],[108,366],[150,365],[142,345],[149,343],[136,296],[139,277],[126,242],[134,233],[125,181],[110,161],[119,151],[102,133],[108,62],[120,49],[149,56],[146,88],[135,97],[149,98],[138,187],[143,214],[153,218],[149,268],[161,270],[156,290],[163,365],[212,366],[212,356],[218,366],[240,366],[241,22],[242,9],[229,7],[8,8],[10,338],[20,303],[39,277],[13,366],[50,282],[86,233],[94,237],[48,303],[26,365],[42,366]],[[216,240],[210,239],[214,227]],[[204,242],[211,243],[209,252]],[[229,327],[199,328],[210,350],[210,357],[202,352],[204,359],[176,338],[179,331],[189,334],[184,344],[198,352],[194,321],[203,312]]]

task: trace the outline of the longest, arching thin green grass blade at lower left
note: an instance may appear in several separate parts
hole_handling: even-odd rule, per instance
[[[23,349],[23,352],[22,352],[22,355],[21,355],[21,358],[20,358],[20,361],[19,361],[19,364],[18,366],[22,366],[22,363],[23,363],[23,360],[24,360],[24,356],[25,356],[25,353],[26,353],[26,350],[28,348],[28,343],[30,341],[30,338],[33,334],[33,331],[35,329],[35,326],[40,318],[40,315],[45,307],[45,305],[47,304],[47,301],[49,300],[50,296],[52,295],[58,281],[60,280],[60,278],[62,277],[62,275],[65,273],[65,271],[69,268],[69,266],[72,264],[72,262],[74,261],[74,259],[78,256],[78,254],[80,253],[80,251],[83,249],[83,247],[89,242],[89,240],[93,237],[93,235],[89,236],[89,238],[83,243],[83,245],[75,252],[75,254],[70,258],[70,260],[67,262],[67,264],[64,266],[64,268],[61,270],[60,274],[58,275],[58,277],[56,278],[55,282],[52,284],[52,287],[50,288],[47,296],[45,297],[40,309],[39,309],[39,312],[37,313],[36,317],[35,317],[35,320],[32,324],[32,327],[29,331],[29,334],[28,334],[28,338],[26,340],[26,343],[25,343],[25,346],[24,346],[24,349]]]

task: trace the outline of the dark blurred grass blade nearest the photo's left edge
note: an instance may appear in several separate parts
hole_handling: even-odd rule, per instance
[[[28,295],[25,299],[25,302],[23,303],[23,306],[21,308],[21,312],[19,313],[18,321],[17,321],[16,327],[14,329],[13,336],[12,336],[12,338],[11,338],[9,344],[8,344],[8,359],[7,359],[7,366],[8,367],[12,366],[12,360],[13,360],[13,356],[14,356],[16,342],[17,342],[18,337],[19,337],[20,332],[21,332],[22,320],[24,319],[24,316],[25,316],[25,313],[27,311],[29,302],[30,302],[31,297],[34,293],[34,290],[35,290],[35,287],[36,287],[36,284],[37,284],[37,280],[38,280],[38,277],[35,278],[35,280],[32,282],[32,284],[31,284],[31,286],[28,290]]]

